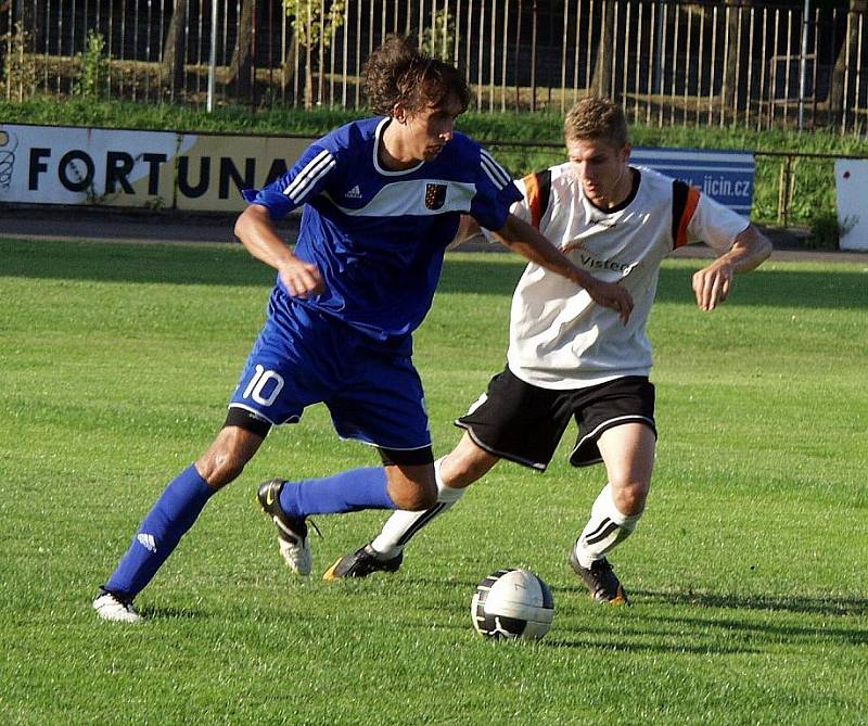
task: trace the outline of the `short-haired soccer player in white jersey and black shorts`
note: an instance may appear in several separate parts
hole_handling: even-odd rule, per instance
[[[602,461],[608,482],[569,561],[595,600],[627,601],[607,555],[636,528],[651,484],[656,428],[646,326],[660,265],[690,242],[718,251],[692,280],[697,305],[711,311],[727,298],[732,276],[762,264],[771,244],[698,189],[630,166],[626,119],[611,101],[579,101],[564,130],[570,161],[521,180],[523,199],[511,212],[578,267],[627,290],[633,314],[625,323],[531,263],[512,298],[507,368],[456,421],[464,434],[435,462],[437,504],[396,511],[378,537],[335,562],[327,579],[396,571],[409,539],[500,459],[544,471],[575,417],[578,436],[570,461]],[[477,229],[465,218],[459,235]]]

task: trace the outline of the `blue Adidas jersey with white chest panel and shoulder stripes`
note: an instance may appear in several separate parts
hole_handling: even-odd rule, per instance
[[[244,190],[272,219],[305,205],[295,254],[319,268],[326,291],[293,302],[378,340],[405,336],[424,319],[461,213],[497,230],[521,199],[510,175],[462,133],[432,162],[383,168],[378,147],[388,120],[335,129],[281,178]]]

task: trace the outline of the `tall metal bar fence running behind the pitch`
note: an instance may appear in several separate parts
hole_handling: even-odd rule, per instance
[[[595,92],[652,125],[863,133],[865,30],[809,0],[0,0],[0,90],[355,109],[366,58],[397,31],[461,67],[478,111]]]

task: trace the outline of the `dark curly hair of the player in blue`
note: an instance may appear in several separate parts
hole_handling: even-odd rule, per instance
[[[420,53],[409,38],[388,35],[368,58],[365,92],[374,113],[388,116],[400,103],[410,113],[429,105],[441,105],[455,95],[463,113],[470,103],[470,89],[459,71]]]

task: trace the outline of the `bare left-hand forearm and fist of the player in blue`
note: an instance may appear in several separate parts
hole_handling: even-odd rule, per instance
[[[291,295],[307,297],[324,290],[316,265],[296,257],[278,234],[268,208],[251,204],[235,221],[235,237],[256,259],[273,267]]]

